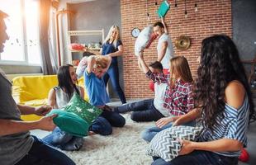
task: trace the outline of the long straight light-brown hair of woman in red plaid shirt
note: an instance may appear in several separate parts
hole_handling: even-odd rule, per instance
[[[183,56],[176,56],[170,59],[170,76],[171,84],[175,82],[173,79],[173,73],[178,74],[178,76],[183,80],[183,82],[193,82],[192,74],[187,63],[187,59]]]

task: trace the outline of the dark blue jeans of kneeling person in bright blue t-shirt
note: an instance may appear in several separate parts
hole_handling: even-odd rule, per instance
[[[89,130],[96,134],[109,135],[112,133],[112,126],[123,127],[126,119],[114,111],[103,111],[96,120],[93,121]]]

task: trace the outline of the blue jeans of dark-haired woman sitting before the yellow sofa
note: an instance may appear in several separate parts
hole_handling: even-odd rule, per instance
[[[83,138],[73,136],[72,134],[66,133],[56,127],[53,132],[45,138],[43,138],[45,142],[51,144],[55,147],[61,148],[62,150],[73,151],[78,150],[83,146]]]

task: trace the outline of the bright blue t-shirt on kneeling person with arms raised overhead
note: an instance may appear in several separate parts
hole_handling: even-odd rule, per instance
[[[88,92],[92,106],[105,106],[110,101],[103,78],[97,78],[94,73],[83,73],[84,86]]]

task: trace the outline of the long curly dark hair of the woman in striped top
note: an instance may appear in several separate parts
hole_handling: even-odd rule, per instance
[[[212,130],[217,115],[225,109],[225,87],[237,80],[241,82],[249,97],[250,120],[255,120],[254,103],[244,66],[234,42],[226,35],[213,35],[202,40],[201,63],[197,70],[195,88],[196,106],[205,114],[204,123]],[[223,115],[221,115],[223,117]]]

